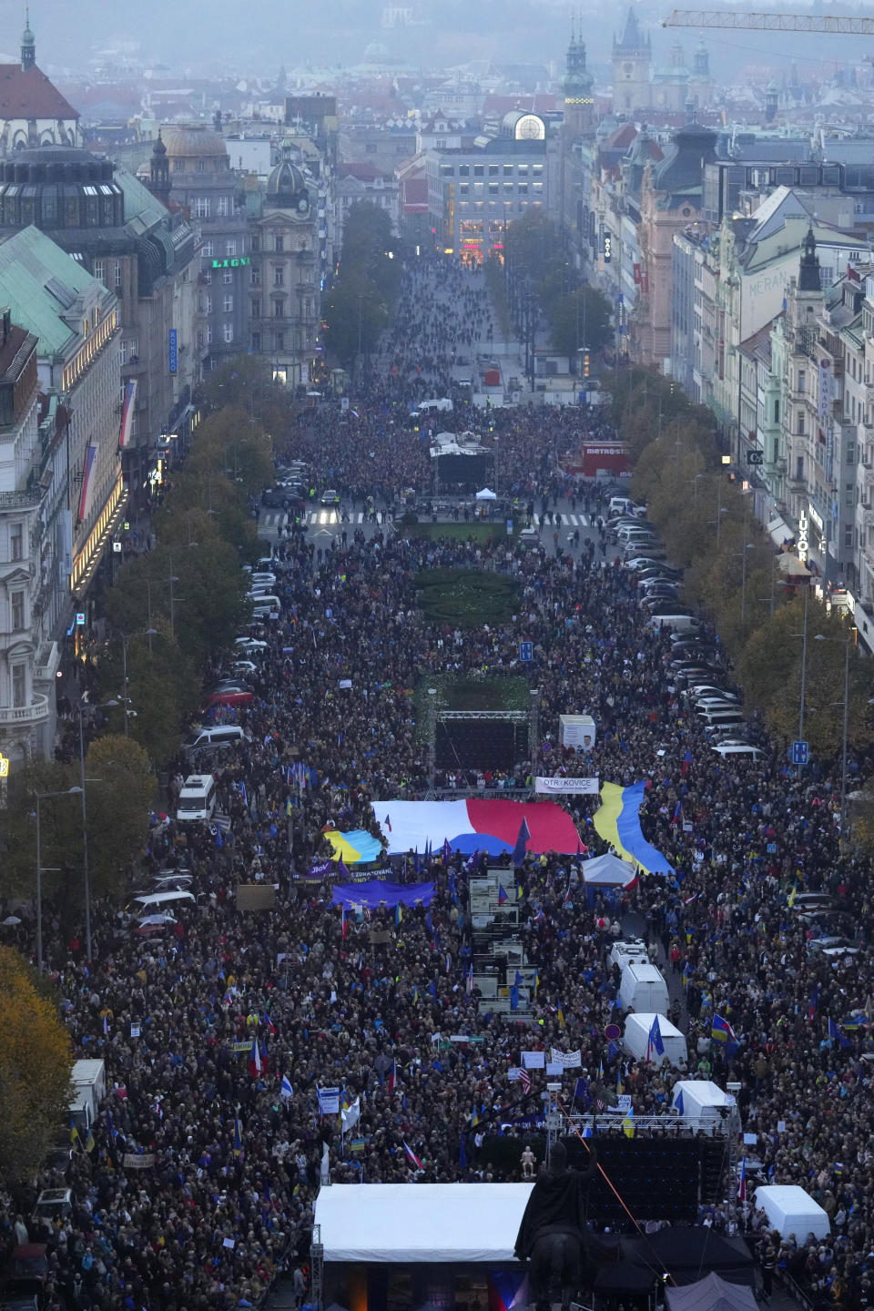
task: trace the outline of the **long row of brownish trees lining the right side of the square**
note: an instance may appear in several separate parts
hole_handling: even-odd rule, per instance
[[[634,494],[646,499],[668,557],[684,569],[685,599],[713,617],[744,703],[778,741],[798,737],[806,623],[803,735],[811,751],[827,760],[841,746],[848,641],[849,742],[870,743],[870,675],[853,633],[837,614],[806,600],[807,585],[781,569],[751,494],[726,476],[709,410],[692,405],[671,379],[629,370],[617,379],[613,421],[634,460]]]

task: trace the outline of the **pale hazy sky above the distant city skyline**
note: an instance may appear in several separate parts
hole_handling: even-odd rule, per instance
[[[397,0],[396,0],[397,3]],[[427,21],[425,28],[385,30],[383,0],[318,0],[318,4],[288,4],[279,0],[151,0],[149,4],[119,4],[118,0],[35,0],[30,22],[37,37],[37,62],[42,68],[84,73],[97,50],[123,41],[136,42],[145,63],[165,62],[178,72],[224,67],[241,76],[273,75],[280,62],[294,68],[303,62],[346,66],[358,63],[368,45],[377,42],[389,55],[435,67],[469,59],[535,62],[563,59],[570,33],[570,3],[563,0],[401,0]],[[742,8],[739,4],[736,8]],[[624,0],[612,4],[574,4],[587,9],[582,17],[590,63],[609,59],[613,30],[621,26]],[[756,5],[750,5],[756,8]],[[772,8],[770,5],[759,8]],[[797,0],[791,8],[807,8]],[[664,30],[660,20],[672,9],[667,3],[638,7],[642,24],[653,31],[654,63],[668,62],[674,41],[681,41],[687,56],[701,33]],[[24,5],[0,0],[3,28],[0,50],[17,54],[24,28]],[[822,38],[755,31],[704,33],[717,76],[744,64],[770,66],[774,73],[789,72],[791,60],[805,71],[823,62],[858,60],[866,50],[858,39]],[[871,42],[874,52],[874,42]]]

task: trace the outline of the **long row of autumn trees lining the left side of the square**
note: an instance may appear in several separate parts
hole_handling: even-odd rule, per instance
[[[207,658],[245,625],[241,565],[259,549],[252,503],[273,480],[273,437],[284,435],[290,410],[269,363],[254,357],[211,375],[204,408],[185,468],[170,475],[153,517],[156,545],[123,564],[104,595],[109,637],[90,656],[96,690],[84,711],[84,737],[93,738],[85,789],[96,895],[124,893],[127,872],[144,847],[156,771],[178,751],[185,725],[197,714]],[[79,787],[77,725],[69,762],[31,760],[10,773],[0,894],[34,894],[35,794]],[[67,926],[80,924],[79,794],[42,804],[41,842],[45,895]]]

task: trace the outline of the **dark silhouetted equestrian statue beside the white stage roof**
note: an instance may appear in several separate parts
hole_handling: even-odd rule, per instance
[[[584,1172],[567,1164],[567,1148],[557,1142],[549,1165],[540,1171],[525,1206],[515,1256],[527,1261],[529,1302],[537,1311],[549,1311],[552,1290],[561,1289],[562,1311],[569,1311],[579,1287],[586,1235],[588,1181],[598,1168],[594,1143]]]

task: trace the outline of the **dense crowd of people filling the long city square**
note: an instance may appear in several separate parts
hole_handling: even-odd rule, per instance
[[[398,367],[415,346],[431,368],[446,368],[446,298],[435,286],[434,271],[409,278],[390,343]],[[486,316],[473,286],[453,287],[452,296],[478,307],[476,328]],[[367,439],[343,437],[338,410],[317,412],[294,434],[292,454],[312,455],[307,443],[324,440],[322,464],[338,484],[345,471],[350,488],[396,494],[417,467],[418,448],[408,455],[415,438],[385,421],[390,400],[352,404]],[[548,408],[522,418],[510,412],[503,433],[514,423],[520,485],[549,498],[565,485],[557,452],[573,420]],[[599,503],[592,486],[575,490]],[[786,1269],[824,1306],[871,1304],[871,968],[866,954],[852,965],[812,957],[815,928],[793,906],[793,890],[827,889],[852,912],[860,940],[869,936],[867,863],[839,855],[836,767],[793,771],[764,733],[755,760],[715,756],[671,680],[668,638],[645,631],[630,576],[594,552],[557,556],[539,541],[425,541],[380,531],[355,532],[345,545],[334,539],[320,560],[294,531],[274,564],[282,616],[252,657],[256,699],[215,712],[248,734],[211,766],[229,826],[156,815],[136,876],[187,869],[197,905],[153,941],[132,937],[115,906],[97,906],[90,964],[81,933],[62,933],[56,918],[45,924],[75,1054],[106,1062],[107,1096],[93,1141],[76,1145],[66,1173],[72,1213],[41,1234],[29,1200],[7,1198],[9,1244],[22,1240],[20,1226],[48,1243],[41,1311],[254,1304],[279,1270],[307,1260],[325,1156],[334,1181],[502,1177],[490,1138],[518,1138],[520,1156],[531,1117],[542,1112],[542,1075],[532,1071],[528,1092],[510,1078],[531,1046],[580,1049],[569,1097],[582,1074],[607,1105],[621,1084],[636,1114],[666,1112],[677,1071],[636,1063],[604,1036],[622,1020],[604,923],[632,911],[654,958],[681,979],[675,1013],[688,1032],[689,1066],[740,1083],[757,1176],[801,1184],[832,1218],[828,1242],[774,1240],[744,1207],[740,1223],[764,1268]],[[515,579],[512,619],[490,629],[423,623],[417,576],[439,566]],[[326,826],[379,832],[387,801],[423,796],[419,680],[484,669],[516,674],[523,637],[536,652],[548,746],[540,771],[645,780],[642,825],[674,873],[643,878],[618,902],[583,894],[575,856],[529,853],[508,872],[522,890],[522,937],[539,975],[520,1021],[490,1012],[468,987],[466,889],[484,864],[478,856],[446,863],[439,852],[417,853],[418,874],[408,877],[432,880],[434,902],[427,911],[406,907],[400,920],[387,910],[342,919],[330,884],[311,869],[329,850]],[[225,661],[216,652],[215,670]],[[565,751],[558,734],[558,716],[580,711],[598,726],[586,758]],[[177,766],[189,772],[187,762]],[[852,766],[862,772],[866,762]],[[573,804],[580,846],[603,851],[595,802]],[[237,885],[248,882],[275,885],[273,910],[237,907]],[[31,952],[31,923],[12,927],[9,940]],[[736,1042],[712,1041],[717,1013]],[[832,1037],[829,1019],[839,1027]],[[447,1032],[482,1041],[447,1051],[432,1041]],[[250,1065],[253,1038],[261,1068]],[[346,1105],[358,1100],[360,1118],[345,1139],[338,1117],[318,1113],[320,1086],[338,1086]],[[153,1154],[148,1168],[126,1165],[143,1152]],[[510,1177],[520,1177],[518,1165]],[[730,1206],[706,1218],[717,1227],[738,1222]]]

